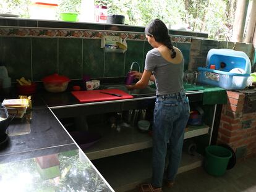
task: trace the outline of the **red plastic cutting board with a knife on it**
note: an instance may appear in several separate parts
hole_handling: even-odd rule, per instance
[[[122,97],[113,96],[110,94],[100,93],[115,93],[121,94]],[[117,89],[108,89],[108,90],[90,90],[90,91],[72,91],[71,92],[75,98],[79,99],[80,102],[97,102],[97,101],[112,101],[112,100],[119,100],[119,99],[131,99],[134,98],[130,94]]]

